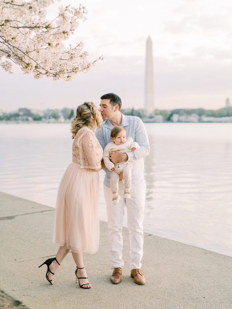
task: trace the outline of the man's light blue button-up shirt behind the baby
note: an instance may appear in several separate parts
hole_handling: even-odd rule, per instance
[[[131,137],[134,142],[140,145],[140,149],[126,153],[128,155],[128,162],[132,162],[133,164],[131,188],[135,188],[144,180],[143,158],[149,155],[150,152],[148,134],[143,121],[139,117],[122,114],[121,127],[127,131],[127,137]],[[108,143],[112,142],[110,133],[113,128],[114,126],[111,122],[106,120],[101,123],[101,129],[96,131],[97,139],[103,150]],[[106,167],[104,167],[104,171],[104,184],[110,187],[110,171]]]

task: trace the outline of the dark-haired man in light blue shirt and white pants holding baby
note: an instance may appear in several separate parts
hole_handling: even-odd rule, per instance
[[[110,189],[110,171],[104,168],[104,196],[108,216],[108,236],[110,244],[110,262],[113,273],[111,282],[118,284],[122,281],[122,226],[124,207],[127,207],[128,229],[130,236],[130,264],[131,277],[135,283],[145,284],[144,273],[141,268],[141,259],[143,256],[143,219],[146,184],[144,180],[144,160],[149,155],[150,146],[145,126],[139,117],[125,116],[120,112],[122,101],[118,95],[107,93],[101,96],[100,111],[103,120],[101,129],[96,133],[98,141],[103,150],[111,142],[110,132],[115,126],[121,126],[127,131],[127,137],[131,137],[140,145],[140,149],[121,153],[116,150],[110,156],[110,160],[115,164],[122,161],[133,163],[131,198],[123,197],[124,185],[119,181],[118,194],[121,197],[117,205],[112,204],[112,192]],[[123,175],[121,175],[121,178]]]

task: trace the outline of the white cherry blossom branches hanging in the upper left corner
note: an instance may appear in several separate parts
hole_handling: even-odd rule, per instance
[[[55,0],[57,2],[58,0]],[[12,62],[25,74],[39,79],[70,81],[75,74],[88,72],[95,61],[88,61],[84,44],[65,46],[78,27],[78,19],[86,20],[84,6],[60,7],[56,18],[46,18],[46,8],[53,0],[0,0],[0,66],[11,73]]]

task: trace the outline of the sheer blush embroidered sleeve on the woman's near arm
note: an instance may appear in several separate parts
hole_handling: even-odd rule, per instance
[[[78,140],[80,167],[97,169],[101,165],[101,154],[97,138],[91,131],[86,131]]]

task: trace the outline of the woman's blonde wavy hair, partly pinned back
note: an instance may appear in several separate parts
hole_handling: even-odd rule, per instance
[[[76,109],[76,116],[71,121],[72,138],[75,138],[76,133],[82,127],[89,125],[90,117],[93,116],[98,128],[100,128],[100,121],[93,102],[84,102]]]

